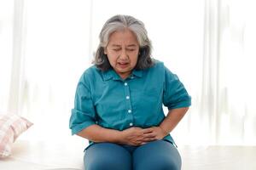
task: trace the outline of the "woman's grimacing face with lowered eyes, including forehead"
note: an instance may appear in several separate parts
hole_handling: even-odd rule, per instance
[[[104,54],[107,54],[110,65],[120,77],[129,77],[137,65],[139,44],[132,31],[114,31],[108,41]]]

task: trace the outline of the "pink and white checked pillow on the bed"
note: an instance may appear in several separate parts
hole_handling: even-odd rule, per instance
[[[0,115],[0,158],[11,155],[11,146],[21,133],[32,126],[18,115]]]

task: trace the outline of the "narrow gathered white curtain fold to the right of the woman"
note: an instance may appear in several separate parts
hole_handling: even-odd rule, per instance
[[[219,52],[219,1],[205,1],[204,54],[202,60],[201,122],[207,131],[207,143],[218,139],[218,52]],[[203,128],[204,129],[204,128]]]

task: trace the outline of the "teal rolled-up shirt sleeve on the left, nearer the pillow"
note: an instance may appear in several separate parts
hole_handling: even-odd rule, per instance
[[[75,94],[69,128],[72,130],[72,134],[75,134],[93,124],[96,124],[95,107],[91,98],[90,88],[81,78]]]

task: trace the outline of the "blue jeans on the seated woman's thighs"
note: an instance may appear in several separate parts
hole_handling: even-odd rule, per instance
[[[181,157],[166,140],[141,146],[92,144],[84,153],[85,170],[180,170]]]

